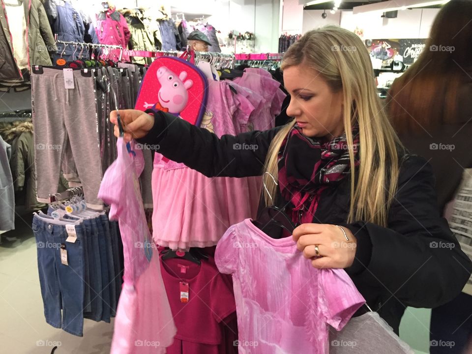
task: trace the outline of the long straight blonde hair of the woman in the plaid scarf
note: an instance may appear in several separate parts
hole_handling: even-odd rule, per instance
[[[402,145],[383,110],[374,84],[369,54],[353,32],[326,26],[304,34],[285,53],[282,70],[304,65],[319,74],[333,92],[343,91],[343,122],[351,162],[351,206],[347,222],[363,220],[387,226],[388,210],[395,196]],[[352,126],[359,124],[359,166],[356,176]],[[275,136],[266,158],[264,191],[266,205],[277,194],[277,155],[295,120]],[[270,174],[270,175],[269,175]]]

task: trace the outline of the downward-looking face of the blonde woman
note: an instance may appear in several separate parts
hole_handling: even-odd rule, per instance
[[[342,90],[333,93],[319,74],[304,65],[284,69],[284,84],[291,95],[287,115],[296,119],[304,135],[330,140],[344,132]]]

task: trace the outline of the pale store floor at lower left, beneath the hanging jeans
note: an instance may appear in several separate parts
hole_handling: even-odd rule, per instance
[[[110,352],[111,324],[84,321],[84,337],[54,328],[44,320],[31,214],[17,217],[16,230],[0,244],[0,353],[103,354]]]

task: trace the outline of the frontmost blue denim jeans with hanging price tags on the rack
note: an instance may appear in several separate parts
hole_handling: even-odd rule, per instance
[[[46,322],[56,328],[83,335],[84,326],[84,229],[76,225],[77,240],[66,242],[65,226],[33,217],[39,283]],[[65,245],[68,266],[61,263]],[[61,314],[62,308],[62,314]]]

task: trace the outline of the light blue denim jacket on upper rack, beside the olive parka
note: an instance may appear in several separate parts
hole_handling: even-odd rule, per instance
[[[47,0],[45,8],[49,15],[53,32],[58,35],[59,41],[83,43],[85,26],[82,16],[70,1]],[[79,59],[80,51],[71,45],[58,43],[58,50],[53,57],[53,62],[63,58],[67,61]],[[65,49],[64,49],[65,47]],[[73,56],[74,52],[76,54]]]

